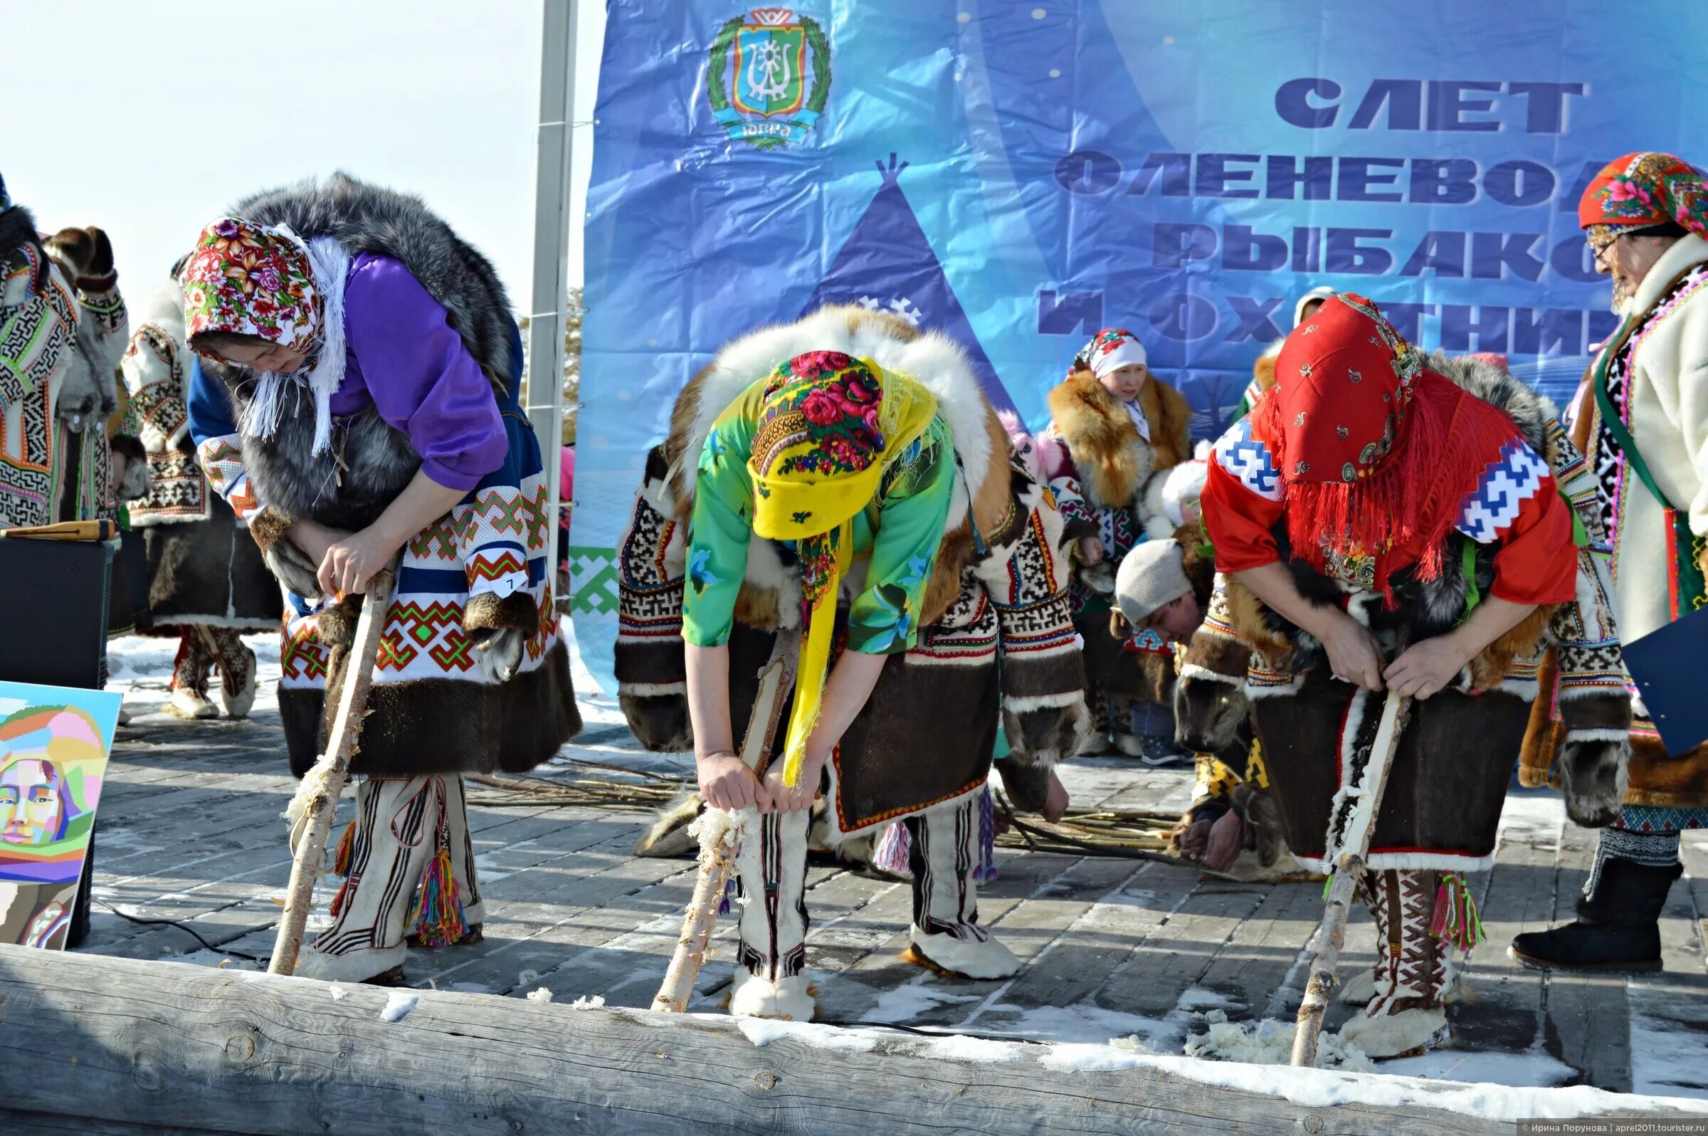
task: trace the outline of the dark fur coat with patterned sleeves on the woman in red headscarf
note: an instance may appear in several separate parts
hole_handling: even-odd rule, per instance
[[[1394,805],[1383,805],[1375,844],[1387,851],[1378,851],[1373,866],[1476,868],[1493,847],[1505,784],[1527,728],[1525,704],[1537,700],[1541,646],[1549,642],[1559,658],[1568,659],[1563,668],[1568,678],[1558,692],[1558,706],[1570,723],[1559,769],[1566,810],[1578,823],[1606,825],[1617,815],[1631,752],[1621,723],[1629,721],[1631,707],[1623,683],[1604,553],[1597,547],[1594,478],[1554,420],[1553,405],[1505,371],[1476,359],[1450,359],[1435,352],[1424,366],[1506,410],[1525,442],[1547,461],[1588,535],[1588,543],[1578,548],[1576,600],[1537,608],[1489,644],[1452,688],[1418,704],[1413,726],[1402,736],[1401,757],[1395,758],[1401,776],[1389,789]],[[1486,593],[1493,581],[1486,550],[1479,550],[1474,572],[1479,589]],[[1331,600],[1331,591],[1337,593],[1298,565],[1295,579],[1307,596]],[[1365,605],[1365,618],[1378,634],[1416,642],[1452,629],[1464,612],[1465,593],[1462,572],[1445,572],[1426,584],[1397,579],[1399,606],[1382,612]],[[1370,711],[1377,707],[1363,697],[1363,707],[1334,711],[1336,699],[1344,702],[1344,683],[1322,678],[1325,668],[1320,663],[1320,644],[1269,612],[1237,581],[1218,577],[1204,625],[1187,649],[1175,695],[1180,736],[1202,750],[1231,741],[1249,709],[1255,709],[1269,776],[1288,815],[1290,844],[1308,863],[1324,852],[1327,801],[1339,788],[1336,769],[1349,769],[1353,758],[1348,755],[1368,745],[1368,729],[1375,721]],[[1312,665],[1315,670],[1301,676],[1300,671]],[[1336,692],[1336,685],[1341,690]],[[1467,699],[1460,690],[1481,697]],[[1360,697],[1354,695],[1354,700]],[[1344,729],[1325,726],[1336,714]],[[1479,745],[1467,752],[1464,736],[1479,738]],[[1319,767],[1320,762],[1308,753],[1339,757]],[[1298,770],[1305,776],[1295,776]],[[1471,803],[1474,808],[1443,810],[1445,801]]]

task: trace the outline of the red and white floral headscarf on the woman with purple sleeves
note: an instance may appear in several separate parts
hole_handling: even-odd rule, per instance
[[[284,225],[220,217],[202,231],[178,270],[184,333],[256,335],[306,350],[321,331],[321,296],[307,244]]]

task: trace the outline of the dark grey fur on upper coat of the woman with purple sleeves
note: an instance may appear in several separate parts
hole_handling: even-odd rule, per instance
[[[246,198],[232,215],[290,225],[304,241],[330,236],[350,255],[379,253],[403,261],[444,306],[451,328],[494,389],[509,384],[516,323],[504,284],[492,263],[418,198],[333,174],[323,183],[304,181]],[[231,391],[241,420],[256,374],[207,359],[202,367]],[[295,393],[307,401],[306,391]],[[420,456],[372,407],[345,419],[342,429],[342,446],[335,442],[347,466],[342,478],[328,475],[326,454],[313,453],[313,413],[280,415],[268,439],[244,436],[243,460],[260,495],[290,518],[307,516],[352,531],[371,524],[408,485]]]

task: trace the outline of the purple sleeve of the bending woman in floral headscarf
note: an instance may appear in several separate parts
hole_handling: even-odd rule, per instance
[[[427,477],[446,489],[475,489],[504,465],[509,441],[492,384],[444,307],[401,261],[359,263],[343,313],[374,408],[408,434]]]

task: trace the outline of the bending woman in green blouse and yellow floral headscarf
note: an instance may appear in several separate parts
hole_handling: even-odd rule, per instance
[[[820,309],[729,343],[676,400],[666,453],[673,501],[652,497],[656,519],[637,506],[623,577],[640,584],[671,559],[673,514],[688,521],[683,579],[649,588],[644,620],[630,600],[623,615],[656,639],[671,593],[681,596],[676,673],[700,793],[760,813],[736,858],[750,902],[731,1013],[813,1013],[806,810],[822,782],[832,842],[897,820],[909,834],[915,960],[974,979],[1013,974],[1020,962],[977,911],[999,719],[1015,748],[1004,784],[1037,808],[1085,717],[1083,671],[1061,518],[1009,465],[965,355],[904,321]],[[736,747],[753,675],[786,629],[801,634],[798,678],[777,757],[757,777]],[[618,641],[637,735],[639,704],[668,702],[675,678],[664,651],[640,647]]]

